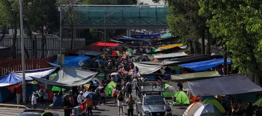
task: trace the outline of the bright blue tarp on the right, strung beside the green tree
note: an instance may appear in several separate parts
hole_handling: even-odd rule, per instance
[[[193,63],[187,63],[187,64],[180,64],[179,66],[185,67],[185,68],[191,68],[192,70],[206,70],[209,68],[213,68],[218,66],[219,64],[224,64],[224,59],[213,59],[213,60],[207,60],[207,61],[199,61],[199,62],[193,62]],[[231,61],[227,59],[227,64],[231,64]]]

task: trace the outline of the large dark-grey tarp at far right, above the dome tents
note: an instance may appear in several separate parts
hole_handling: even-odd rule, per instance
[[[260,86],[254,84],[243,74],[194,80],[187,83],[194,96],[232,95],[262,91]]]

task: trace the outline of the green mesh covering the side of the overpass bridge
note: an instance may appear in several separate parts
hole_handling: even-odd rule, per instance
[[[104,16],[115,12],[107,25],[167,25],[167,6],[74,6],[79,18],[76,25],[104,25]],[[67,21],[65,22],[67,23]],[[68,23],[67,23],[68,24]]]

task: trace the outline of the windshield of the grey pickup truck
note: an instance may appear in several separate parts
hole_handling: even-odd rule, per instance
[[[163,97],[144,97],[144,105],[164,105],[166,104]]]

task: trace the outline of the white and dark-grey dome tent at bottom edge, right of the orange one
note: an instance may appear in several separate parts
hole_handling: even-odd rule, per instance
[[[197,109],[193,116],[222,116],[222,114],[212,104],[204,104]]]

